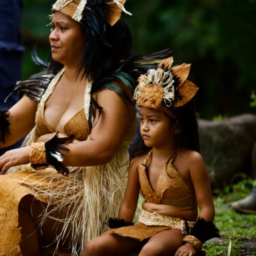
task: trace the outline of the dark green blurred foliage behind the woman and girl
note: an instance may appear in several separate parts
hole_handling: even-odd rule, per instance
[[[48,58],[53,0],[23,0],[24,79],[38,71],[31,48]],[[255,113],[256,0],[128,0],[123,15],[137,55],[173,48],[176,64],[192,63],[190,80],[199,87],[199,117]]]

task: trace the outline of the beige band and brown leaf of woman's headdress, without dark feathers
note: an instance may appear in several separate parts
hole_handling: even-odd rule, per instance
[[[89,7],[86,6],[87,0],[57,0],[53,4],[52,11],[61,12],[67,16],[70,16],[73,20],[81,22],[83,17],[83,10]],[[106,12],[106,23],[109,23],[111,26],[117,23],[119,20],[122,11],[126,14],[130,14],[124,8],[124,3],[126,0],[105,0],[105,12]]]

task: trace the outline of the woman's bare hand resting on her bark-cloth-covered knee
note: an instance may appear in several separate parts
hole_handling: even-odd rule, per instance
[[[10,167],[26,165],[29,163],[30,146],[9,150],[0,156],[0,170],[4,174]]]

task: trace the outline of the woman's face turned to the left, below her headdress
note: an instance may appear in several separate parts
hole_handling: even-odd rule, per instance
[[[81,25],[61,12],[54,12],[51,27],[49,41],[53,59],[76,68],[85,45]]]

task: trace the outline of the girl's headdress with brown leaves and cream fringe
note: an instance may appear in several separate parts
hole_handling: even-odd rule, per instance
[[[173,57],[163,59],[158,68],[150,69],[139,76],[139,85],[134,91],[137,106],[165,111],[174,117],[171,109],[189,102],[199,89],[187,80],[190,64],[173,66]]]

